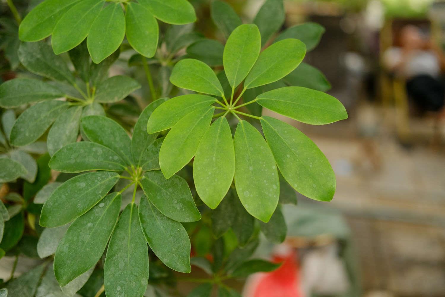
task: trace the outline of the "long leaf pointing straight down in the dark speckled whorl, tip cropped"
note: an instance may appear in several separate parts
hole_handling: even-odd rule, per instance
[[[148,248],[134,203],[125,207],[105,257],[104,281],[108,297],[142,296],[148,284]]]

